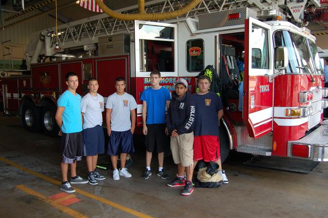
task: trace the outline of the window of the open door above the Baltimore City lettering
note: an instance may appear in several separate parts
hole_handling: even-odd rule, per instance
[[[174,72],[174,28],[139,25],[140,72]]]

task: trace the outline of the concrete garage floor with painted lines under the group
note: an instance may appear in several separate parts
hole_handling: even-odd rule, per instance
[[[328,163],[303,174],[229,161],[223,164],[228,185],[197,188],[182,197],[180,188],[166,186],[155,173],[141,180],[144,145],[136,144],[131,179],[113,181],[111,170],[101,170],[106,180],[75,185],[75,196],[62,196],[60,138],[27,132],[19,117],[0,117],[0,133],[1,217],[328,217]],[[165,170],[174,177],[172,157],[166,158]],[[85,177],[85,159],[77,171]]]

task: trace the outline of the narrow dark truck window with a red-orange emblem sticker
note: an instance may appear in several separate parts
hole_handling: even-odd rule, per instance
[[[202,71],[204,69],[204,41],[202,39],[188,40],[186,49],[187,71]]]

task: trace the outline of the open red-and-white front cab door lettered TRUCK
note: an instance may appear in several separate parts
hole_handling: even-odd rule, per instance
[[[271,26],[250,17],[245,20],[243,121],[255,139],[272,132],[274,73]]]

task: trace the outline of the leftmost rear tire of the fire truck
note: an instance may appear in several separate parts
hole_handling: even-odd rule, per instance
[[[31,101],[25,101],[22,105],[22,125],[30,132],[39,132],[40,128],[40,108]]]

